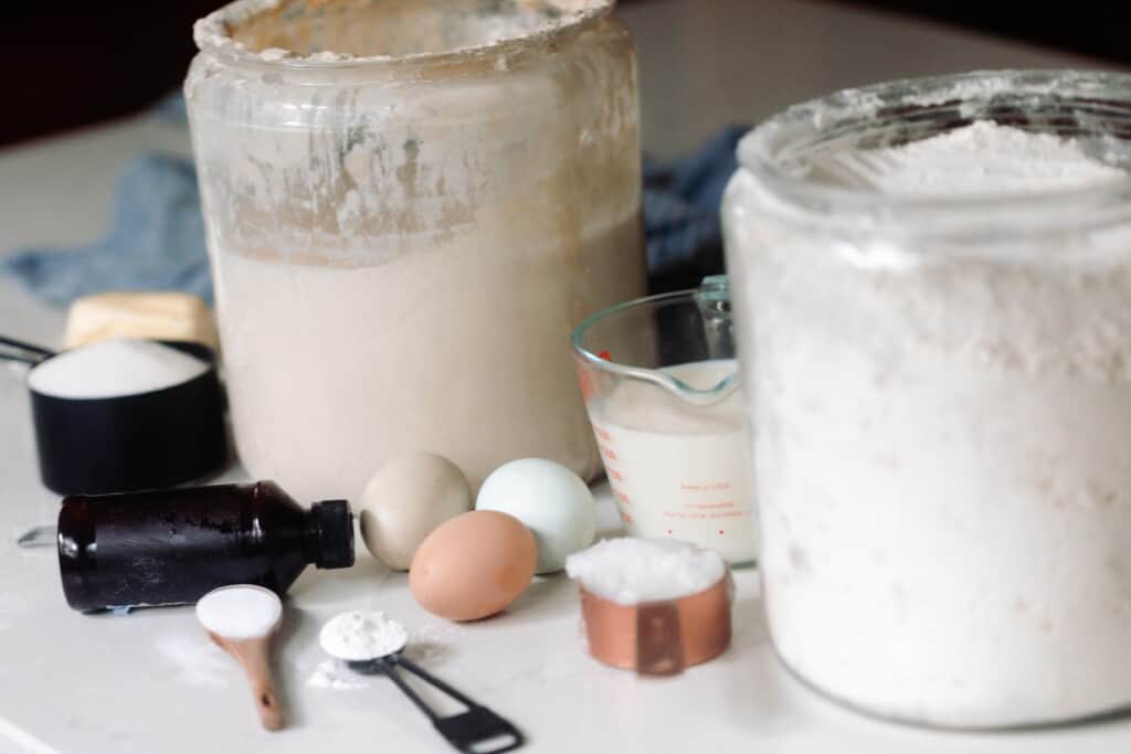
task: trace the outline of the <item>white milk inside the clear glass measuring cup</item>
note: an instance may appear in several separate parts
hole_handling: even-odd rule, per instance
[[[706,389],[737,370],[733,358],[657,370]],[[602,460],[625,528],[754,560],[753,480],[742,397],[694,406],[655,384],[627,380],[589,405]]]

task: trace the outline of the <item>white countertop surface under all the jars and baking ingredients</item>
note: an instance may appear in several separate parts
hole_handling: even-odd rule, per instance
[[[849,7],[797,0],[654,0],[624,14],[640,49],[645,140],[670,156],[726,122],[869,81],[974,68],[1088,61]],[[0,253],[105,231],[112,189],[133,155],[185,154],[182,128],[130,120],[0,151]],[[0,332],[46,345],[62,314],[0,279]],[[775,660],[757,572],[737,574],[734,644],[676,678],[640,679],[588,658],[563,578],[539,579],[506,615],[452,625],[418,608],[364,549],[349,571],[308,571],[292,590],[277,674],[288,729],[259,729],[240,670],[191,609],[127,617],[72,613],[51,549],[16,537],[53,520],[38,483],[23,370],[0,365],[0,752],[442,752],[446,744],[389,683],[308,685],[320,623],[380,608],[415,632],[425,665],[517,722],[543,752],[1115,752],[1131,721],[1022,734],[925,731],[826,701]],[[232,469],[228,478],[240,478]],[[607,492],[602,513],[614,521]]]

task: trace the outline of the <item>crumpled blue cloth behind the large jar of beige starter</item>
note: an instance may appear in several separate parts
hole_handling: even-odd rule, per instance
[[[179,97],[157,118],[179,119]],[[744,128],[727,128],[689,157],[645,161],[644,217],[648,270],[688,279],[718,272],[718,208],[735,170]],[[706,261],[705,261],[706,260]],[[66,305],[102,291],[184,291],[211,301],[204,222],[191,161],[146,155],[132,161],[118,185],[110,234],[75,249],[26,249],[0,258],[36,296]]]

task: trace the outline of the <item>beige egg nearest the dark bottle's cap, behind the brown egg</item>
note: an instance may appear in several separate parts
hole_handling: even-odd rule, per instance
[[[472,509],[472,488],[459,467],[434,453],[392,459],[361,496],[361,536],[373,557],[407,571],[416,548],[444,521]]]

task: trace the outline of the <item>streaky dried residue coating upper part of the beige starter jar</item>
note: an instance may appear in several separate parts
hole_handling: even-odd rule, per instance
[[[214,187],[205,203],[216,241],[258,259],[374,266],[421,245],[452,245],[482,224],[484,206],[510,203],[518,218],[526,210],[511,198],[518,184],[534,187],[518,192],[519,203],[534,205],[529,217],[549,234],[575,222],[555,219],[569,211],[560,188],[638,192],[638,161],[622,151],[638,139],[634,69],[590,61],[582,70],[558,54],[551,86],[542,60],[551,36],[567,29],[588,28],[584,44],[598,58],[615,52],[616,25],[597,18],[611,7],[240,0],[201,19],[197,42],[209,54],[193,62],[185,95],[190,105],[223,103],[211,115],[190,106],[215,154],[200,173]],[[322,64],[337,58],[346,62]],[[239,86],[217,84],[227,77]],[[291,84],[310,102],[286,102]],[[584,102],[582,118],[562,118],[572,101]],[[604,229],[628,219],[605,215],[576,220]]]

